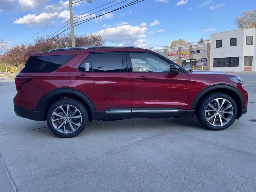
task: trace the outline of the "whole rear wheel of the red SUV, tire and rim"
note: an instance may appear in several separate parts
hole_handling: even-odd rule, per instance
[[[64,98],[51,105],[47,111],[46,121],[55,135],[64,138],[74,137],[82,133],[86,127],[88,112],[81,102]]]

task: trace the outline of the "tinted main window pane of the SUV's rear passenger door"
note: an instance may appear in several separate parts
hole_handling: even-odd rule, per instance
[[[91,62],[93,72],[123,72],[122,53],[94,53]]]

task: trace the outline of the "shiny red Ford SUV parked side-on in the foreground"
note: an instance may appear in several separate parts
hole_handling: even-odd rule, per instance
[[[60,137],[80,134],[92,120],[194,114],[205,128],[222,130],[247,112],[247,92],[237,75],[188,72],[162,55],[131,46],[30,54],[15,84],[15,113],[46,120]]]

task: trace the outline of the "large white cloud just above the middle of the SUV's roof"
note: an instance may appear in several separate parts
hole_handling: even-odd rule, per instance
[[[146,27],[122,25],[102,29],[98,34],[111,43],[134,45],[135,41],[138,39],[146,38],[146,31]]]

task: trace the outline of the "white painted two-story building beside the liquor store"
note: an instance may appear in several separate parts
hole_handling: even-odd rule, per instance
[[[256,29],[210,34],[210,71],[256,71]]]

